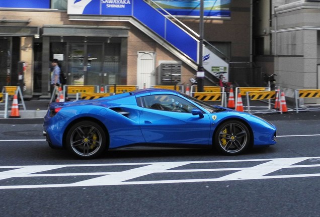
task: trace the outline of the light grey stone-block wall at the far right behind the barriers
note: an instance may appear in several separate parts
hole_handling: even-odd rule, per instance
[[[293,97],[294,89],[319,87],[320,3],[285,3],[278,5],[273,17],[273,53],[277,82],[286,90],[286,96]]]

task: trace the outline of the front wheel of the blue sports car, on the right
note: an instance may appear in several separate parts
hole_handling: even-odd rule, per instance
[[[214,135],[214,147],[222,154],[237,155],[249,148],[251,135],[248,127],[239,121],[222,123]]]

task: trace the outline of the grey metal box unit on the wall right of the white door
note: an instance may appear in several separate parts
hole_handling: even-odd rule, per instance
[[[161,63],[159,71],[159,84],[176,85],[181,82],[181,64]]]

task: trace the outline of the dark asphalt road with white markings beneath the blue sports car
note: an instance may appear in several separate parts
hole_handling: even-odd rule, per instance
[[[241,156],[52,150],[41,119],[0,120],[0,216],[320,216],[320,112],[261,115],[278,143]]]

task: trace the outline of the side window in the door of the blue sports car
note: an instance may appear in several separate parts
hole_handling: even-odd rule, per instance
[[[196,106],[177,95],[148,95],[143,97],[143,106],[153,110],[191,113]]]

